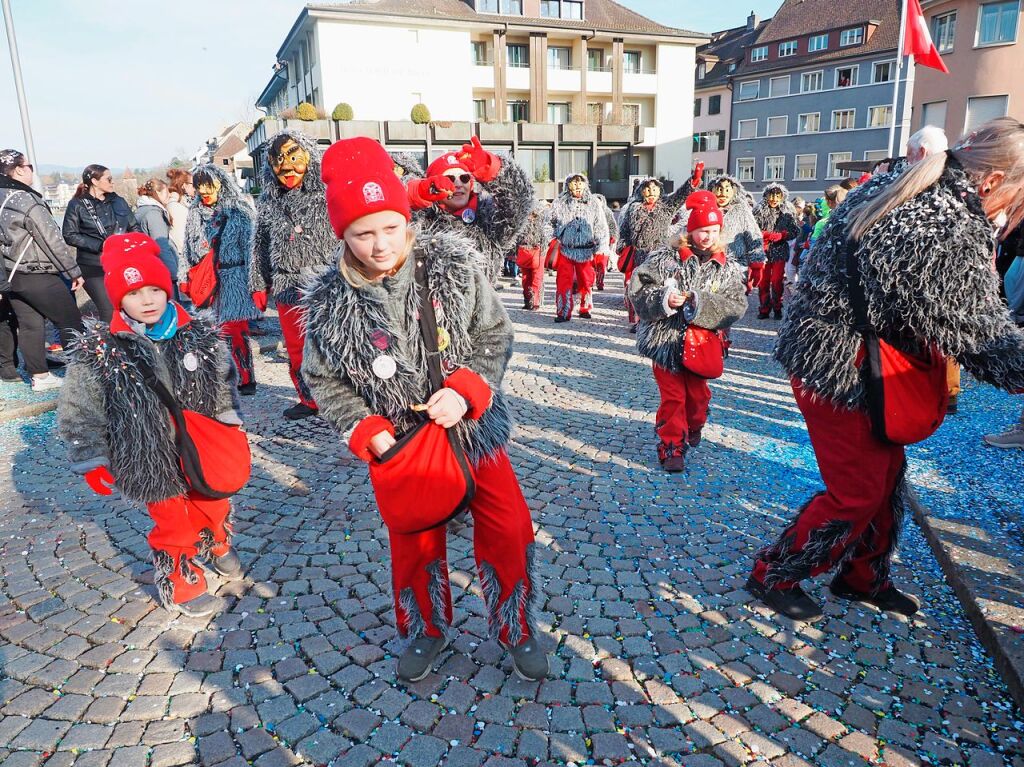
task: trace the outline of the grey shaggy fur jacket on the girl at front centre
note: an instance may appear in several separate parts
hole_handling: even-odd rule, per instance
[[[505,446],[512,418],[502,395],[505,368],[512,356],[512,323],[479,265],[479,253],[465,237],[419,232],[415,250],[392,278],[360,287],[350,285],[335,266],[303,290],[306,346],[302,374],[319,414],[343,435],[368,416],[383,416],[401,434],[418,422],[410,410],[431,390],[426,356],[416,319],[420,300],[416,261],[427,260],[430,298],[438,328],[451,343],[441,351],[449,376],[468,368],[481,376],[494,398],[478,420],[455,428],[470,460],[478,464]],[[389,378],[375,373],[374,361],[389,356],[396,370]]]

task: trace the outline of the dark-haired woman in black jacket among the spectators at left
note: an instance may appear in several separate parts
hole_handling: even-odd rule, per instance
[[[128,203],[114,191],[114,176],[110,168],[86,166],[82,171],[82,183],[65,211],[62,232],[65,242],[77,249],[85,292],[104,323],[111,322],[114,307],[103,287],[99,254],[106,238],[127,231],[138,231],[138,222]]]

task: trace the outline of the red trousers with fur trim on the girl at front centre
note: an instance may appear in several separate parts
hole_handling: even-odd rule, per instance
[[[535,629],[534,522],[505,451],[476,468],[473,551],[493,635],[518,645]],[[402,637],[438,637],[451,631],[446,526],[424,532],[389,532],[395,616]]]

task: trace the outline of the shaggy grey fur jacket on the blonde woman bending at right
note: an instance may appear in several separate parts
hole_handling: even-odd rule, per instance
[[[897,177],[872,178],[833,211],[779,329],[775,358],[841,407],[865,407],[846,276],[847,218]],[[947,163],[935,184],[881,218],[856,247],[880,337],[906,351],[935,344],[983,381],[1024,388],[1024,330],[999,299],[994,247],[977,190],[957,163]]]

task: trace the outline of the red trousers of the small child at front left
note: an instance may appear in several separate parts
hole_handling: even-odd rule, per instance
[[[187,602],[205,594],[206,578],[191,560],[197,555],[227,553],[230,501],[188,493],[148,504],[147,509],[154,528],[146,540],[153,549],[161,601]]]

